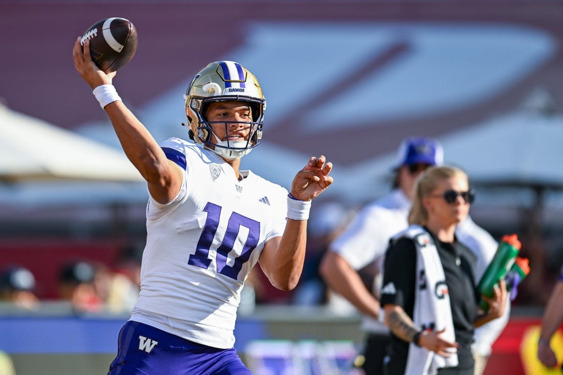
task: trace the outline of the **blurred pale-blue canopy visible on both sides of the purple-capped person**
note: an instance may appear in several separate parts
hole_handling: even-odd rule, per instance
[[[444,146],[445,163],[462,168],[471,183],[480,187],[479,201],[481,191],[520,190],[528,191],[528,198],[519,206],[530,206],[534,195],[563,190],[563,114],[556,112],[546,92],[535,91],[517,110],[437,139]],[[386,177],[395,163],[396,154],[388,153],[356,164],[346,173],[362,182],[355,185],[373,186],[378,196],[388,189]]]

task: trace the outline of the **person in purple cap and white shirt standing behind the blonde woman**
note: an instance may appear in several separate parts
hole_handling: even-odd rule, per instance
[[[397,150],[397,162],[392,167],[392,191],[363,207],[351,225],[330,244],[321,260],[320,273],[330,289],[364,315],[360,328],[366,339],[355,365],[363,368],[366,375],[383,373],[386,348],[391,342],[379,305],[383,261],[389,240],[408,227],[407,217],[417,177],[428,167],[443,163],[444,149],[439,141],[428,137],[404,139]],[[477,255],[476,280],[479,280],[479,274],[497,249],[497,242],[470,217],[459,225],[457,235],[463,237]],[[368,277],[365,277],[365,270],[369,270]],[[497,319],[501,322],[494,324],[499,327],[487,335],[483,350],[485,362],[492,342],[506,325],[507,317],[508,313],[506,319]],[[484,365],[476,365],[476,368],[482,367]]]

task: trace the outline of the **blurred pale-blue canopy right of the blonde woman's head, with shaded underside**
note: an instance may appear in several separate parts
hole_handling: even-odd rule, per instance
[[[519,109],[440,140],[446,162],[479,187],[477,200],[482,192],[491,203],[524,208],[537,234],[544,221],[561,221],[563,115]]]

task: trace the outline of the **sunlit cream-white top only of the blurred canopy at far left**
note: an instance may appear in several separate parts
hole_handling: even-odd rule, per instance
[[[142,178],[123,151],[0,105],[0,180]]]

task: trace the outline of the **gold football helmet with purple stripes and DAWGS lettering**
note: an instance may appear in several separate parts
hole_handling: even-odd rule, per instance
[[[254,74],[234,61],[216,61],[200,70],[187,87],[186,117],[190,127],[190,139],[203,144],[227,159],[238,159],[248,154],[260,144],[266,100],[262,88]],[[248,104],[252,111],[252,122],[244,122],[251,127],[248,140],[212,141],[211,124],[224,124],[227,135],[229,128],[225,122],[209,122],[205,118],[207,104],[216,101],[238,100]],[[229,122],[233,123],[233,122]]]

